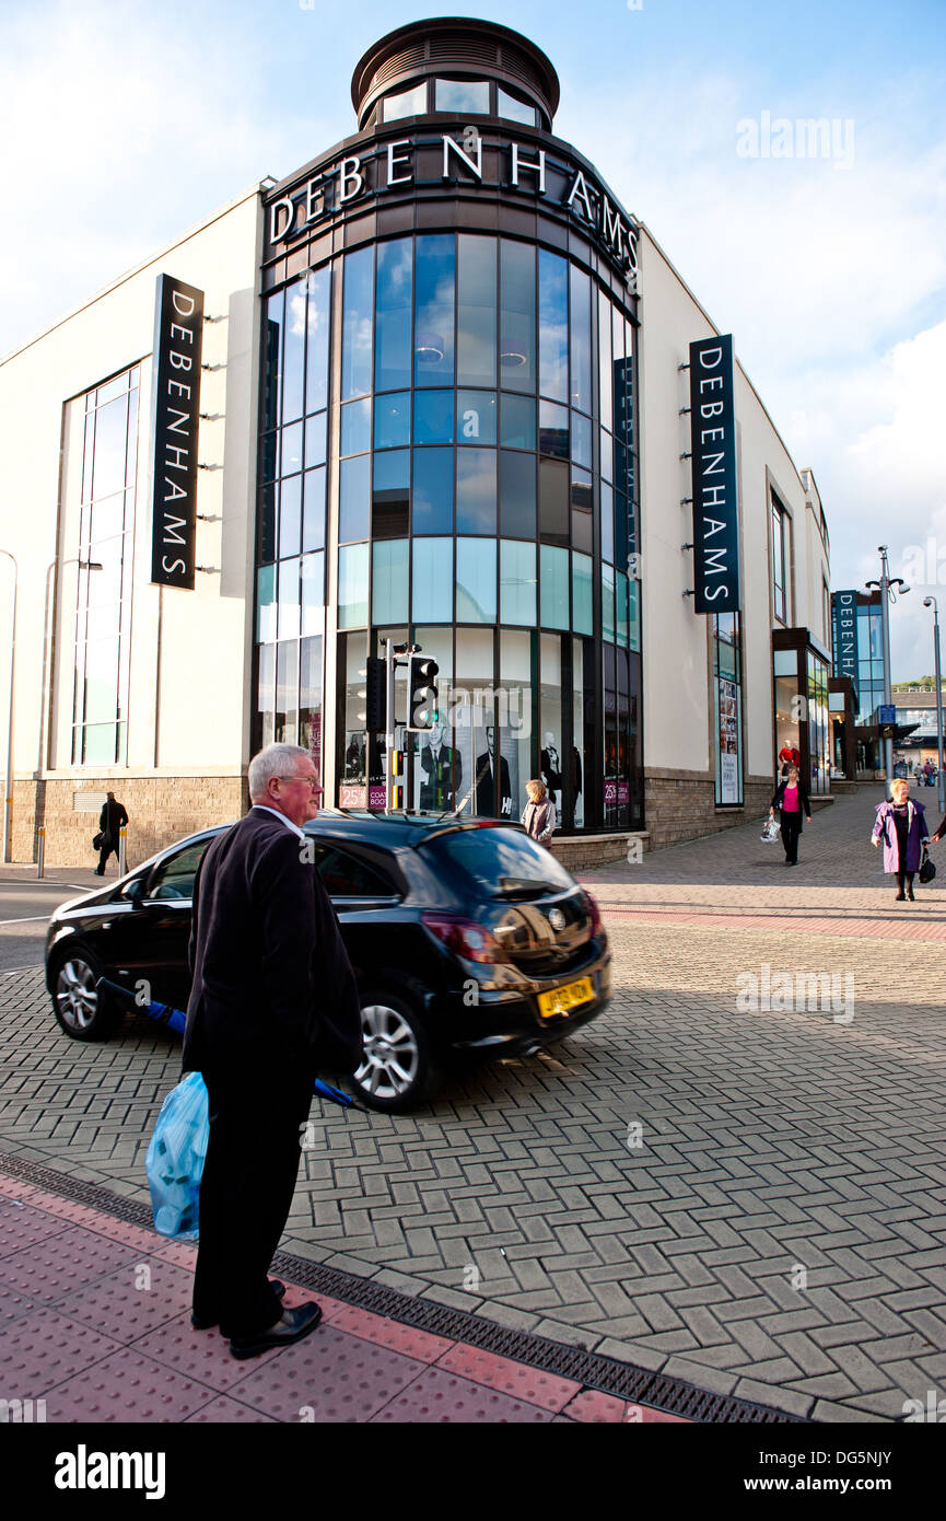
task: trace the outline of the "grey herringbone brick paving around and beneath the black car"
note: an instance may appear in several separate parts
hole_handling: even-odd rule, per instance
[[[818,812],[791,870],[756,823],[589,873],[608,1013],[412,1116],[313,1104],[283,1244],[798,1415],[941,1395],[946,897],[893,902],[876,802]],[[836,1005],[738,1007],[779,973]],[[176,1045],[67,1042],[35,973],[5,1005],[0,1150],[141,1196]]]

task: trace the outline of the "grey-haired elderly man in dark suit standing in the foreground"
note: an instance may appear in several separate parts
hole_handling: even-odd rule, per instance
[[[360,1005],[303,824],[315,765],[297,745],[249,762],[249,812],[217,835],[193,887],[193,986],[184,1071],[202,1072],[210,1139],[193,1284],[196,1329],[219,1323],[234,1357],[315,1331],[316,1303],[286,1310],[266,1276],[286,1226],[319,1071],[362,1059]]]

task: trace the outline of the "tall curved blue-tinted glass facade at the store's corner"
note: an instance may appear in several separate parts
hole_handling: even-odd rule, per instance
[[[362,672],[409,639],[440,665],[438,726],[395,733],[411,809],[519,818],[543,776],[561,829],[640,827],[630,309],[563,249],[432,228],[263,321],[254,748],[309,745],[332,802],[383,806]]]

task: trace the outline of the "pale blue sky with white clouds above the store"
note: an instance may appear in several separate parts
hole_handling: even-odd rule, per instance
[[[934,538],[941,581],[891,622],[894,677],[928,672],[923,595],[941,592],[946,611],[946,0],[444,6],[458,11],[549,53],[557,132],[735,335],[795,464],[815,472],[832,584],[875,575],[884,541],[902,573]],[[424,14],[443,12],[5,0],[0,353],[351,132],[360,53]],[[836,120],[849,161],[841,137],[823,160],[741,157],[741,123],[763,113]]]

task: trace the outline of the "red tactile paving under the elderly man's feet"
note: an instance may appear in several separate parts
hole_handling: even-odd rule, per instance
[[[0,1174],[0,1384],[70,1422],[677,1421],[573,1380],[318,1300],[321,1326],[239,1361],[190,1325],[196,1249]]]

